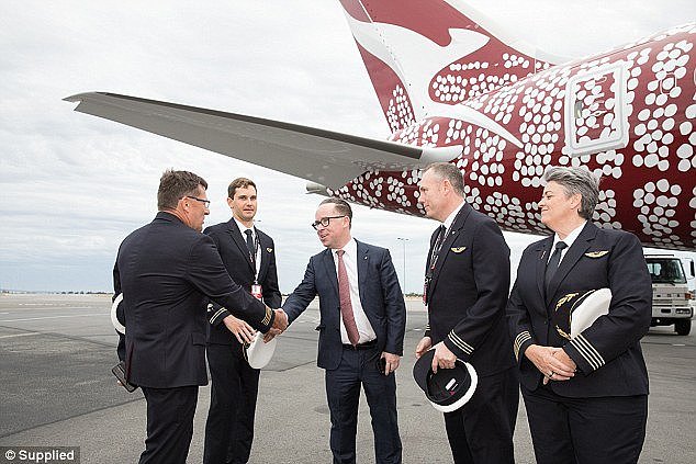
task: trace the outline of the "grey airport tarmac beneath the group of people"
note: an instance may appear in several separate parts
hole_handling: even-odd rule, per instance
[[[117,361],[108,295],[0,295],[2,406],[0,446],[80,446],[81,463],[137,462],[145,438],[145,400],[115,384]],[[448,463],[442,417],[425,400],[411,371],[426,314],[407,303],[405,355],[397,405],[405,463]],[[261,374],[251,463],[327,463],[329,418],[324,374],[316,367],[317,306],[279,339]],[[642,340],[650,373],[648,432],[641,463],[694,463],[696,331],[651,329]],[[201,387],[190,463],[202,462],[210,386]],[[364,398],[358,462],[374,461]],[[518,463],[534,463],[520,398]],[[5,461],[0,456],[0,463]],[[16,462],[16,461],[15,461]]]

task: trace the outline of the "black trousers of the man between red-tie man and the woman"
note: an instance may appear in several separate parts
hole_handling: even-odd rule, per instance
[[[469,403],[453,412],[445,412],[454,463],[514,463],[513,433],[518,405],[516,367],[479,377]]]

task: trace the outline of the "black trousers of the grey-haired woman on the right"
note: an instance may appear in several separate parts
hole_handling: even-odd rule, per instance
[[[568,398],[550,387],[521,391],[537,463],[638,462],[648,395]]]

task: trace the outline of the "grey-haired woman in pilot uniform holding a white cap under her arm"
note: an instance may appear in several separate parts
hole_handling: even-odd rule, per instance
[[[553,235],[530,245],[507,304],[537,462],[635,463],[646,437],[648,371],[640,339],[652,286],[636,236],[590,222],[598,182],[549,168],[539,202]],[[609,288],[607,315],[580,333],[563,301]]]

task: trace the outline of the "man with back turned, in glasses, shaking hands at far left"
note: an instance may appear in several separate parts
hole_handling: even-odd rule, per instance
[[[224,306],[267,332],[287,327],[227,274],[213,240],[201,234],[209,214],[206,182],[187,171],[166,171],[155,219],[119,249],[114,287],[123,292],[126,380],[147,403],[147,439],[141,463],[184,463],[193,434],[199,385],[205,371],[205,304]]]

